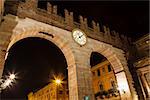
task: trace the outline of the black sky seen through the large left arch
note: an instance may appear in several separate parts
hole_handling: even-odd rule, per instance
[[[18,78],[13,86],[2,91],[3,99],[26,99],[30,92],[48,85],[53,75],[62,76],[67,85],[67,62],[62,51],[52,42],[38,37],[22,39],[9,49],[3,76],[9,72],[17,73]]]

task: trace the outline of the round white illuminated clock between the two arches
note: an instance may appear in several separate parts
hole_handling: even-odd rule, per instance
[[[74,29],[72,31],[72,36],[73,36],[73,39],[75,40],[75,42],[81,46],[85,45],[87,42],[86,34],[83,31],[81,31],[80,29]]]

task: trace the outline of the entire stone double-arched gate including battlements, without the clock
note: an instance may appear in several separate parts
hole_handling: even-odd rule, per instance
[[[57,15],[57,6],[51,4],[48,4],[46,11],[37,8],[36,0],[22,2],[19,4],[17,16],[6,15],[0,27],[0,74],[3,72],[9,49],[16,42],[28,37],[40,37],[58,46],[66,58],[70,100],[82,100],[85,96],[94,100],[90,66],[92,52],[102,54],[112,65],[122,100],[136,100],[136,91],[123,51],[130,39],[123,35],[120,38],[116,32],[111,32],[114,35],[110,35],[107,27],[104,27],[103,33],[98,23],[92,23],[93,28],[89,28],[87,19],[82,16],[80,24],[74,22],[73,13],[67,10],[65,18],[62,18]],[[72,39],[71,31],[74,28],[80,28],[87,34],[86,45],[80,46]]]

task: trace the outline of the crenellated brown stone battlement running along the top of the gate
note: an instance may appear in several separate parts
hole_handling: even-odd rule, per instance
[[[50,3],[47,4],[47,10],[37,7],[38,0],[26,0],[18,6],[17,16],[20,18],[32,18],[37,21],[54,25],[68,31],[74,28],[83,30],[88,37],[112,44],[115,47],[127,50],[128,44],[131,43],[131,38],[119,34],[116,31],[111,31],[109,27],[103,25],[101,28],[98,22],[92,20],[92,27],[89,27],[87,18],[79,16],[79,23],[74,21],[73,12],[64,9],[64,17],[57,13],[57,6]]]

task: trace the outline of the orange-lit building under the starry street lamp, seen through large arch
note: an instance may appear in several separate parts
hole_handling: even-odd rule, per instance
[[[69,94],[66,85],[56,85],[49,83],[36,92],[28,94],[28,100],[69,100]]]

